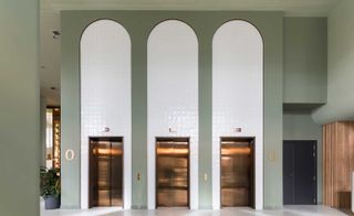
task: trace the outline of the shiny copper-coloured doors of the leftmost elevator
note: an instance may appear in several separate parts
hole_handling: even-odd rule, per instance
[[[90,139],[90,207],[123,206],[123,138]]]

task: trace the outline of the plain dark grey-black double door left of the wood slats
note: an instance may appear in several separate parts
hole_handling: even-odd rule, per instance
[[[316,141],[283,142],[284,205],[316,204]]]

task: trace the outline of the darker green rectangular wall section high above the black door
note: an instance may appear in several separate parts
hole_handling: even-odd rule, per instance
[[[325,104],[326,35],[326,18],[284,18],[284,104]]]

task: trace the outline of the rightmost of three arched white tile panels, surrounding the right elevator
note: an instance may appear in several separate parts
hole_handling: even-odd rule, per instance
[[[241,128],[236,132],[235,128]],[[254,137],[256,208],[263,206],[263,42],[242,20],[212,40],[212,203],[220,208],[220,137]]]

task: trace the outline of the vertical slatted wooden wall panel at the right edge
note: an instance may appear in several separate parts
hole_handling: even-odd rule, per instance
[[[323,203],[326,206],[351,207],[353,149],[353,121],[323,126]]]

